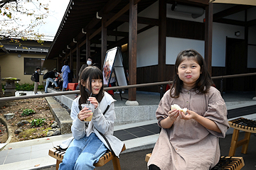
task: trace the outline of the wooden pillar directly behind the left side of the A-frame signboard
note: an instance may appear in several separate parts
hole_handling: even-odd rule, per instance
[[[104,27],[104,23],[107,21],[105,17],[102,18],[102,38],[101,38],[101,68],[103,68],[105,55],[107,52],[107,28]]]

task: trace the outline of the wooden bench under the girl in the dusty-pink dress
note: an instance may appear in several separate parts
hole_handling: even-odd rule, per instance
[[[149,162],[150,154],[146,154],[145,162]],[[220,161],[211,170],[227,169],[227,170],[240,170],[245,166],[242,157],[225,157],[221,156]]]

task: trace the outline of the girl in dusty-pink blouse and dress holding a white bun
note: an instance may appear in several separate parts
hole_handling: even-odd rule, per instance
[[[218,138],[228,130],[227,108],[213,86],[206,62],[196,50],[184,50],[175,63],[174,81],[156,110],[159,139],[150,170],[211,169],[218,163]],[[187,108],[171,111],[171,105]]]

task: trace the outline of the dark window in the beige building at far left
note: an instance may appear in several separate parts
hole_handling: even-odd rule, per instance
[[[33,74],[36,71],[36,67],[40,67],[39,74],[42,74],[41,68],[44,60],[42,58],[24,58],[24,74]]]

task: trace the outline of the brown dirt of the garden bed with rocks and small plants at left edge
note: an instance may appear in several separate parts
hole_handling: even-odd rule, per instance
[[[23,110],[26,108],[32,109],[35,113],[31,113],[29,115],[21,115]],[[6,120],[4,118],[4,114],[14,113],[14,118],[11,120]],[[48,107],[48,103],[46,98],[28,98],[17,101],[7,101],[4,106],[0,108],[0,117],[2,120],[9,126],[9,130],[11,132],[11,142],[18,142],[23,140],[32,140],[41,137],[46,137],[46,134],[50,128],[50,125],[53,123],[54,118],[50,113],[50,109]],[[43,125],[41,126],[31,126],[31,121],[33,119],[45,118]],[[28,123],[18,127],[17,123],[21,120],[27,120]],[[20,130],[22,132],[16,134],[14,133],[16,130]],[[4,126],[4,123],[0,122],[0,142],[4,143],[8,139],[7,130]]]

